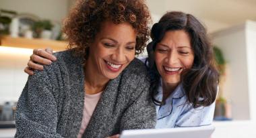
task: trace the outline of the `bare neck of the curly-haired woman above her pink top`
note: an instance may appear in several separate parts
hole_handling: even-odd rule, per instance
[[[95,68],[90,65],[90,62],[87,62],[84,67],[85,74],[85,84],[84,89],[86,94],[96,94],[102,92],[106,88],[106,84],[109,79],[104,78],[102,75],[95,72]]]

